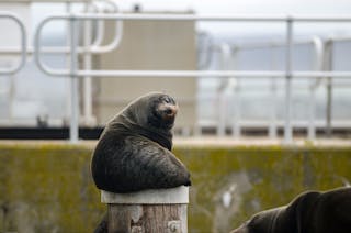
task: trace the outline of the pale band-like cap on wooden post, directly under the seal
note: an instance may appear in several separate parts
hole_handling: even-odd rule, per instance
[[[129,193],[113,193],[101,190],[101,202],[122,204],[189,203],[189,187],[147,189]]]

